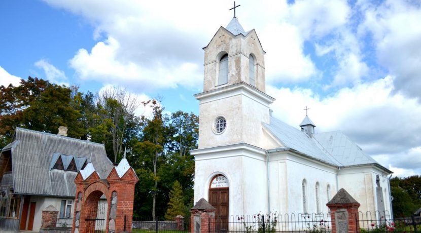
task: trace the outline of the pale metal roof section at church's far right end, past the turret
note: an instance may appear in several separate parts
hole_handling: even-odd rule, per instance
[[[314,137],[343,166],[377,163],[340,131],[318,133]]]

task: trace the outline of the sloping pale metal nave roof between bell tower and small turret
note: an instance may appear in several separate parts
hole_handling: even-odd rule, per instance
[[[290,147],[301,153],[306,154],[316,160],[335,166],[341,166],[323,147],[313,138],[309,138],[307,134],[300,130],[280,121],[276,118],[270,118],[270,124],[263,125],[279,140],[285,147]]]

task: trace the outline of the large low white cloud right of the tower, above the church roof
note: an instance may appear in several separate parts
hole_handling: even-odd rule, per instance
[[[371,156],[387,157],[387,161],[379,161],[384,167],[391,161],[391,166],[414,170],[392,161],[403,158],[403,153],[421,158],[421,122],[417,120],[421,105],[415,99],[394,94],[393,82],[393,77],[387,76],[342,88],[325,98],[309,89],[269,86],[266,91],[276,98],[271,106],[274,116],[286,123],[298,128],[305,116],[303,109],[308,106],[316,132],[341,130]]]

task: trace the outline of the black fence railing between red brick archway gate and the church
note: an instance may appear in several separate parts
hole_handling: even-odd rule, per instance
[[[155,221],[149,218],[139,218],[133,217],[130,221],[129,216],[125,216],[124,229],[129,230],[131,226],[131,232],[156,232],[156,233],[165,233],[165,232],[174,232],[174,233],[183,233],[190,232],[190,219],[184,218],[181,222],[177,221],[168,221],[164,219],[156,219]]]

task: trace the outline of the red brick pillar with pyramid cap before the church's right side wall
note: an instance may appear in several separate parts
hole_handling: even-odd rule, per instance
[[[341,188],[327,207],[332,219],[332,233],[357,233],[360,228],[358,203],[349,193]]]

